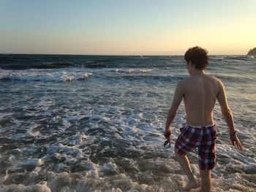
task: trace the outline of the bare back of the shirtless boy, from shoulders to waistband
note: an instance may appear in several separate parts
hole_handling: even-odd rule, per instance
[[[193,75],[182,80],[178,86],[184,93],[187,123],[193,126],[213,125],[214,105],[220,96],[221,82],[208,74]]]

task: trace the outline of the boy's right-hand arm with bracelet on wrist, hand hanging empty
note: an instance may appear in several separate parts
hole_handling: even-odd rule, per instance
[[[238,146],[239,150],[243,150],[243,146],[241,145],[241,142],[239,141],[238,137],[236,136],[236,129],[234,128],[234,121],[233,121],[233,115],[230,110],[230,107],[228,107],[227,104],[227,97],[225,94],[225,87],[221,81],[219,81],[219,93],[217,94],[217,100],[219,102],[220,109],[222,110],[222,115],[227,123],[228,128],[230,129],[230,140],[233,145]]]

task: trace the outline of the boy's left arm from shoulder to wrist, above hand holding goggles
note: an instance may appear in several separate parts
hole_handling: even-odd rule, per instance
[[[173,119],[176,116],[178,106],[181,104],[182,97],[184,96],[184,88],[181,82],[178,82],[178,85],[176,86],[176,90],[173,97],[173,102],[170,106],[170,110],[167,115],[165,130],[170,128],[170,123],[173,122]]]

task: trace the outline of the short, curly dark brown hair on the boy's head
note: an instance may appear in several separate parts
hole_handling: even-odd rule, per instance
[[[207,53],[207,50],[196,46],[189,48],[184,57],[187,64],[189,64],[189,61],[191,61],[192,65],[195,65],[195,69],[203,70],[206,69],[206,66],[208,65]]]

